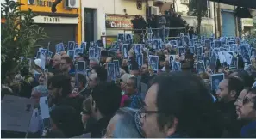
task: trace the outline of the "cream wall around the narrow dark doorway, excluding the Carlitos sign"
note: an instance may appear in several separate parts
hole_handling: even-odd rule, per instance
[[[146,3],[143,1],[142,10],[138,10],[135,0],[82,0],[82,40],[84,41],[84,8],[96,9],[95,13],[95,39],[100,39],[106,32],[105,15],[124,15],[123,9],[127,9],[128,15],[146,15]]]

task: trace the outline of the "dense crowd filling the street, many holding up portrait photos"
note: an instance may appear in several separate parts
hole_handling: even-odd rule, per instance
[[[200,39],[197,43],[204,44]],[[115,56],[99,58],[84,53],[71,58],[62,51],[47,57],[45,69],[41,59],[35,59],[31,67],[5,76],[1,99],[7,95],[29,98],[37,104],[34,109],[40,109],[39,101],[47,97],[51,126],[33,133],[28,130],[28,137],[256,137],[255,57],[247,69],[238,56],[237,69],[223,67],[218,59],[214,72],[206,67],[197,73],[199,52],[191,52],[189,44],[182,54],[172,43],[159,51],[141,49],[145,56],[141,65],[134,47],[129,48],[128,59],[120,50]],[[205,55],[209,51],[203,49]],[[150,63],[149,55],[158,56],[159,61]],[[172,69],[170,56],[181,63],[180,69]],[[120,76],[109,81],[107,65],[115,60],[120,63]],[[80,61],[90,73],[77,72],[75,65]],[[157,71],[152,64],[158,64]],[[225,76],[216,90],[211,89],[213,74]],[[2,130],[2,137],[25,136]]]

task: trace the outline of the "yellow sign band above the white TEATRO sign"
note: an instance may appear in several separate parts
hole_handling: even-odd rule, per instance
[[[23,5],[21,6],[22,11],[28,11],[28,8],[34,12],[45,12],[52,13],[51,7],[55,0],[19,0]],[[65,0],[62,0],[56,7],[57,12],[61,14],[79,14],[78,9],[65,9]]]

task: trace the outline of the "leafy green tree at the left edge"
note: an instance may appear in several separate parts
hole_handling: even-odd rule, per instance
[[[21,6],[21,3],[12,0],[1,3],[1,15],[4,19],[1,23],[2,76],[15,69],[20,64],[21,57],[32,57],[36,42],[47,38],[44,28],[34,24],[33,18],[36,15],[32,10],[22,12],[19,10]]]

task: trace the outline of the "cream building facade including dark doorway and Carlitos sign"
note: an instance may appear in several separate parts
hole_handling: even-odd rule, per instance
[[[86,42],[130,32],[134,15],[146,15],[146,2],[142,0],[82,0],[81,7],[82,39]]]

